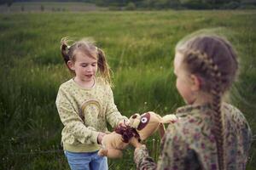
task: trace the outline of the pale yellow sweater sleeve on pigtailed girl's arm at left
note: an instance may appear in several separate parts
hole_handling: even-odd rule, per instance
[[[67,98],[67,93],[60,88],[56,98],[56,107],[61,122],[67,128],[67,133],[72,133],[81,144],[97,144],[98,132],[94,127],[85,127],[79,114],[73,108],[72,102]],[[73,143],[73,141],[69,141]]]

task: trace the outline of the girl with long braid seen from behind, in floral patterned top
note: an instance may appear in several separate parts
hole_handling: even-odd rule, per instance
[[[223,37],[197,35],[177,43],[174,74],[186,106],[177,109],[161,141],[158,163],[136,139],[137,169],[245,169],[252,133],[246,118],[224,102],[238,62]]]

